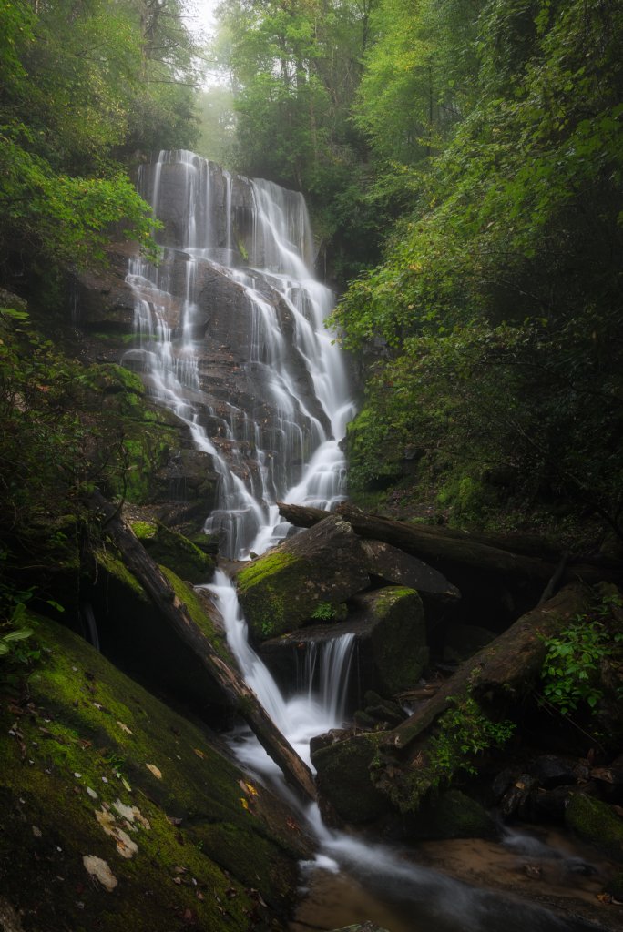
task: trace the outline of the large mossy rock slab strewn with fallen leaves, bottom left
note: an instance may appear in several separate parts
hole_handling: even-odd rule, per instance
[[[296,816],[80,637],[36,638],[28,703],[0,706],[7,909],[29,932],[273,928],[310,856]]]

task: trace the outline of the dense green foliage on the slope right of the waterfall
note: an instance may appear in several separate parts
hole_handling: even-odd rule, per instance
[[[349,432],[353,488],[400,478],[417,447],[416,482],[457,518],[557,502],[621,536],[623,11],[470,9],[460,118],[411,173],[415,207],[385,261],[333,319],[377,359]]]

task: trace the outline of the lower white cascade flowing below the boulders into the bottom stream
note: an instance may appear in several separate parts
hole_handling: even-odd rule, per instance
[[[343,723],[354,637],[346,635],[323,645],[309,645],[298,691],[286,698],[248,643],[246,623],[228,576],[217,570],[214,583],[202,588],[215,598],[229,648],[247,683],[299,756],[311,763],[311,737]],[[281,793],[300,808],[294,794],[285,787],[281,771],[255,735],[247,729],[234,733],[231,747],[246,767],[276,783]],[[406,851],[329,829],[316,805],[309,806],[302,815],[318,843],[316,857],[302,865],[304,882],[311,884],[315,892],[308,912],[290,926],[292,932],[365,921],[378,923],[390,932],[524,932],[526,928],[534,932],[590,932],[581,921],[570,925],[566,919],[525,901],[479,890],[422,867]],[[523,836],[521,841],[524,843]],[[307,886],[301,892],[309,893]]]

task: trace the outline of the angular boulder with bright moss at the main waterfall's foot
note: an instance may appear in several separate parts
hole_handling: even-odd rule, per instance
[[[238,595],[254,640],[313,621],[369,580],[353,528],[337,514],[284,541],[238,573]]]

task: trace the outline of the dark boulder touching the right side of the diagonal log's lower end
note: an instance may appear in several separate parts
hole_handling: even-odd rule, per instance
[[[371,822],[388,811],[388,801],[370,779],[370,764],[386,733],[353,734],[312,751],[321,799],[354,825]]]

